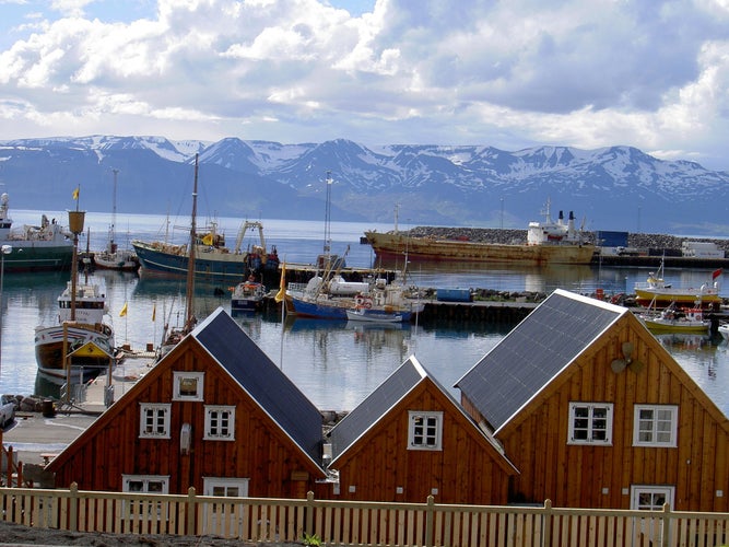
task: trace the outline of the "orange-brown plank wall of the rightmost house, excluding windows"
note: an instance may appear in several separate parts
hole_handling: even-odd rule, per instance
[[[614,373],[622,342],[643,370]],[[571,401],[612,403],[610,446],[568,444]],[[463,396],[462,405],[482,419]],[[678,446],[633,446],[634,405],[677,405]],[[586,348],[495,437],[519,469],[509,500],[626,509],[632,485],[675,488],[679,511],[729,509],[729,421],[632,314]]]

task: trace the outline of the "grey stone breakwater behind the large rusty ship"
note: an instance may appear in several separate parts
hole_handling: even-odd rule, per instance
[[[402,232],[413,237],[433,236],[446,240],[467,240],[477,243],[526,244],[526,230],[498,228],[436,228],[415,226]],[[718,248],[729,253],[729,240],[712,240],[706,237],[678,237],[665,234],[628,234],[627,246],[635,248],[674,248],[680,249],[684,241],[710,242]]]

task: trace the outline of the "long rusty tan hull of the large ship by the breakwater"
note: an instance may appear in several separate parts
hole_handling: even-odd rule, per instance
[[[408,256],[413,261],[520,264],[590,264],[595,246],[589,244],[506,245],[435,237],[407,237],[402,234],[365,232],[378,258],[392,260]]]

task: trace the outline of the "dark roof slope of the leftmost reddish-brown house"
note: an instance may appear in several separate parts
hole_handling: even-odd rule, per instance
[[[317,465],[321,461],[321,412],[219,307],[191,333],[260,407]]]

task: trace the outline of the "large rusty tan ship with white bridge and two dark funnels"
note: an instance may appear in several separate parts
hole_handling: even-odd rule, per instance
[[[553,221],[548,201],[542,222],[529,222],[527,241],[520,244],[483,243],[449,240],[436,236],[415,237],[395,231],[366,231],[365,236],[377,257],[385,261],[398,260],[407,253],[412,261],[443,261],[458,264],[518,264],[524,266],[590,264],[596,247],[587,234],[575,226],[574,213],[565,222],[560,211]],[[397,217],[397,214],[396,214]]]

